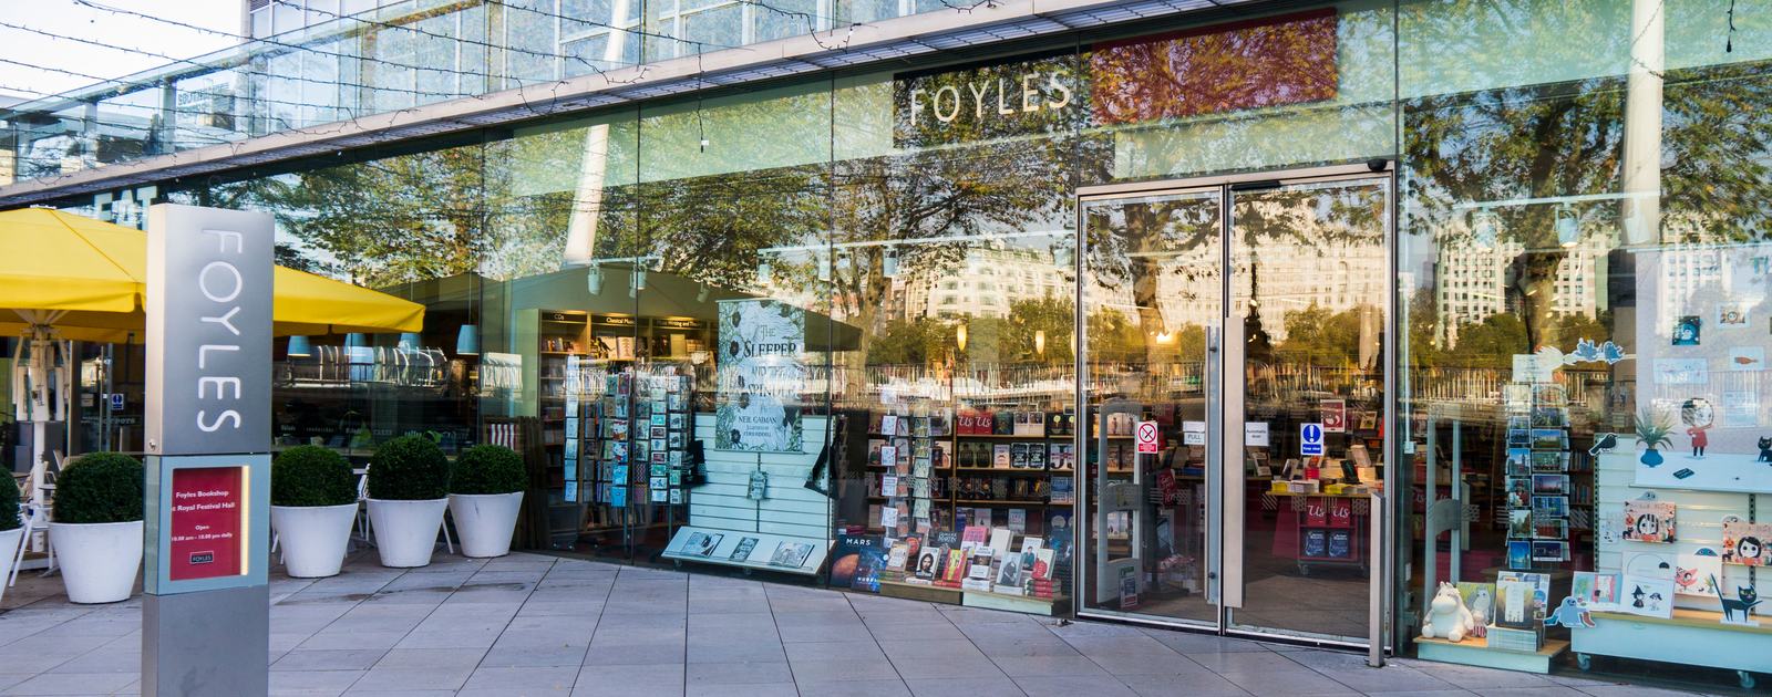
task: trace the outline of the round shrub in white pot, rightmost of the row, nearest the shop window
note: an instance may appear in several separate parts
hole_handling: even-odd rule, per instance
[[[455,458],[448,479],[448,509],[455,518],[461,554],[503,557],[517,529],[528,474],[523,456],[505,446],[473,446]]]

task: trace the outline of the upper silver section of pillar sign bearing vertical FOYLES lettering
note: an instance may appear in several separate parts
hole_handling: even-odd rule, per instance
[[[271,446],[271,216],[147,214],[149,455]]]

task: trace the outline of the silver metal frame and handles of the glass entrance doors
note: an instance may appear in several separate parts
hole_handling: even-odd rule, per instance
[[[1395,617],[1395,531],[1393,517],[1396,504],[1391,501],[1373,501],[1372,504],[1372,538],[1368,541],[1372,550],[1372,577],[1368,578],[1370,598],[1368,598],[1368,640],[1347,642],[1334,639],[1306,639],[1295,633],[1285,632],[1262,632],[1262,630],[1239,630],[1230,626],[1230,609],[1242,607],[1242,527],[1244,527],[1244,501],[1242,495],[1226,497],[1224,492],[1242,492],[1244,472],[1244,386],[1237,380],[1235,389],[1226,389],[1226,375],[1242,375],[1244,368],[1244,338],[1242,322],[1230,322],[1232,306],[1232,191],[1251,191],[1279,188],[1288,184],[1311,184],[1311,182],[1329,182],[1329,180],[1382,180],[1386,184],[1386,193],[1389,198],[1389,214],[1384,221],[1384,258],[1386,258],[1386,294],[1384,294],[1384,356],[1380,364],[1384,366],[1384,400],[1382,400],[1382,423],[1384,423],[1384,449],[1386,467],[1384,467],[1384,490],[1395,492],[1396,467],[1398,460],[1395,456],[1395,405],[1396,405],[1396,170],[1389,166],[1389,161],[1377,161],[1386,166],[1377,168],[1373,165],[1331,165],[1331,166],[1313,166],[1313,168],[1294,168],[1294,170],[1265,170],[1265,172],[1246,172],[1230,173],[1216,177],[1193,177],[1193,179],[1166,179],[1152,182],[1132,182],[1132,184],[1106,184],[1106,186],[1086,186],[1077,188],[1076,195],[1076,313],[1074,336],[1077,336],[1076,348],[1076,400],[1077,400],[1077,419],[1083,421],[1083,428],[1076,428],[1072,439],[1074,448],[1079,453],[1079,460],[1084,462],[1083,467],[1076,469],[1076,490],[1077,490],[1077,509],[1072,515],[1076,520],[1077,540],[1092,540],[1095,534],[1095,525],[1090,515],[1090,481],[1088,481],[1088,432],[1090,421],[1095,414],[1088,409],[1088,334],[1086,334],[1086,317],[1081,311],[1084,306],[1084,283],[1088,278],[1088,235],[1086,235],[1086,216],[1084,207],[1093,202],[1106,200],[1123,200],[1123,198],[1148,198],[1164,195],[1187,195],[1217,191],[1221,202],[1219,216],[1219,265],[1223,272],[1219,274],[1219,322],[1217,331],[1207,327],[1207,460],[1212,462],[1217,456],[1217,467],[1207,471],[1207,591],[1205,596],[1209,603],[1217,605],[1216,621],[1194,621],[1182,617],[1162,617],[1139,612],[1120,612],[1120,610],[1092,610],[1084,607],[1084,600],[1090,598],[1093,591],[1090,586],[1095,578],[1093,559],[1090,548],[1079,545],[1077,559],[1072,563],[1072,573],[1076,575],[1076,594],[1074,594],[1074,612],[1079,617],[1100,617],[1113,621],[1127,621],[1139,624],[1154,624],[1178,630],[1205,630],[1226,637],[1255,637],[1255,639],[1281,639],[1281,640],[1311,640],[1315,644],[1325,646],[1345,646],[1368,649],[1368,663],[1382,665],[1384,655],[1393,651],[1391,632],[1387,628],[1389,619]],[[1235,463],[1235,465],[1233,465]],[[1097,506],[1100,508],[1100,506]],[[1081,515],[1077,515],[1081,513]],[[1226,578],[1226,570],[1235,568],[1235,578]],[[1226,584],[1226,580],[1237,580],[1235,584]]]

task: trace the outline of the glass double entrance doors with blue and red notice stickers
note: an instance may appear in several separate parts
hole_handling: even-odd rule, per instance
[[[1079,614],[1382,637],[1387,172],[1079,196]]]

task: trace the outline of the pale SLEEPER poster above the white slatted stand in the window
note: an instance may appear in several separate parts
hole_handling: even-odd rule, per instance
[[[769,299],[719,301],[714,448],[801,453],[806,311]]]

